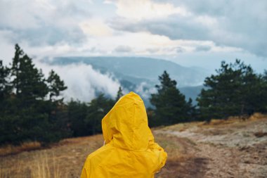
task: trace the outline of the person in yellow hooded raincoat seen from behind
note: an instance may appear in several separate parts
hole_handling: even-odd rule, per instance
[[[105,145],[91,153],[81,178],[153,178],[167,160],[154,142],[143,100],[130,92],[103,117]]]

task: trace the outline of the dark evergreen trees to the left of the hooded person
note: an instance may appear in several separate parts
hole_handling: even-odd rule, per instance
[[[18,44],[9,66],[0,60],[0,145],[39,141],[48,144],[71,136],[101,132],[100,118],[115,100],[99,94],[90,103],[64,103],[63,80],[51,70],[44,77]],[[118,96],[122,96],[119,88]]]

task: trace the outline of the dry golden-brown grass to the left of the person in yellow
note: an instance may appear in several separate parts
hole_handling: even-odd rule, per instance
[[[89,153],[103,145],[102,135],[64,139],[51,148],[0,157],[0,178],[79,177]]]

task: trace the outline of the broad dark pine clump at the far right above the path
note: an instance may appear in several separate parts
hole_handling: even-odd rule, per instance
[[[216,75],[204,80],[197,98],[203,120],[227,118],[231,115],[250,115],[263,105],[263,81],[250,65],[240,60],[221,62]]]

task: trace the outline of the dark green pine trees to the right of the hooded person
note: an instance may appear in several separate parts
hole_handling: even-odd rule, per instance
[[[256,74],[250,65],[240,60],[235,63],[221,62],[215,75],[206,77],[204,88],[197,97],[197,106],[176,87],[169,74],[159,76],[157,94],[150,102],[155,109],[148,108],[151,126],[172,125],[178,122],[227,119],[229,116],[248,116],[255,112],[267,112],[267,71]]]

